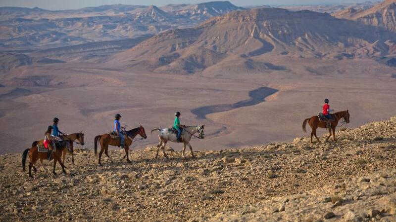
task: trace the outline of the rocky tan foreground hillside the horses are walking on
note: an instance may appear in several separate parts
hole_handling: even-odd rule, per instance
[[[396,116],[337,138],[196,151],[197,159],[168,148],[170,160],[155,160],[146,148],[131,152],[132,163],[114,150],[115,162],[104,157],[102,167],[92,150],[76,149],[67,175],[38,167],[34,179],[22,173],[20,154],[4,154],[0,219],[395,221]]]

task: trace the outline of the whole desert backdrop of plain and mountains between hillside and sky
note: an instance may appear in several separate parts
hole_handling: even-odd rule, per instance
[[[0,152],[28,148],[54,116],[66,133],[85,131],[92,147],[96,135],[111,130],[115,113],[130,128],[149,131],[170,127],[181,111],[182,124],[206,126],[205,140],[193,142],[200,150],[302,136],[302,120],[319,113],[324,98],[336,111],[350,111],[348,127],[395,115],[395,18],[347,15],[353,7],[362,16],[392,13],[395,2],[334,7],[336,17],[228,1],[2,7]],[[130,26],[178,26],[120,32],[122,19]],[[133,148],[157,140],[152,135]]]

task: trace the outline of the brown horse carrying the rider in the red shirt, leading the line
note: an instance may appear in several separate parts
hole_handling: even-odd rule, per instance
[[[339,111],[333,114],[333,117],[335,117],[335,120],[330,122],[331,123],[331,129],[329,129],[329,136],[327,137],[326,141],[331,137],[331,131],[333,131],[333,138],[336,140],[336,127],[338,125],[338,122],[340,121],[341,118],[344,118],[345,123],[349,123],[349,112],[347,111]],[[316,139],[319,141],[319,138],[316,136],[316,129],[318,127],[320,128],[326,128],[327,122],[322,122],[319,120],[319,117],[317,115],[312,116],[311,118],[307,118],[302,122],[302,130],[306,133],[306,122],[308,122],[309,126],[312,128],[311,132],[311,144],[312,144],[312,136],[315,136]]]

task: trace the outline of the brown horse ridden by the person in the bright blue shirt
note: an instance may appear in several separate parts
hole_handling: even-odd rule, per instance
[[[124,141],[124,148],[125,148],[125,155],[124,158],[127,157],[127,161],[131,162],[129,160],[129,147],[132,145],[133,139],[139,134],[142,138],[146,139],[146,131],[143,126],[139,126],[135,129],[131,129],[126,131],[127,136],[125,137]],[[102,165],[100,162],[101,156],[103,154],[106,154],[106,156],[110,159],[111,162],[113,160],[111,157],[108,155],[108,146],[115,146],[119,147],[120,146],[120,139],[112,139],[110,134],[106,133],[103,135],[99,135],[95,137],[94,143],[95,143],[95,156],[98,156],[98,141],[100,143],[100,152],[99,152],[99,165]]]

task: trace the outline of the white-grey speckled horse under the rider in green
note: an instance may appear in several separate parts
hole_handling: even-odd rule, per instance
[[[184,158],[184,151],[186,150],[187,145],[189,146],[189,148],[191,150],[191,155],[193,156],[193,158],[195,158],[193,148],[191,147],[191,144],[190,144],[190,140],[193,136],[195,136],[194,134],[196,134],[197,132],[198,132],[198,138],[203,139],[204,135],[205,135],[203,133],[204,126],[205,125],[182,127],[183,131],[182,131],[182,135],[180,137],[181,137],[181,141],[184,143],[183,144],[183,152],[182,152],[183,158]],[[165,146],[168,141],[171,141],[173,143],[178,143],[176,133],[169,132],[169,129],[160,129],[160,128],[152,129],[151,133],[154,131],[158,131],[158,138],[159,138],[159,144],[157,145],[157,153],[155,154],[155,159],[158,158],[159,148],[162,149],[162,152],[164,153],[165,158],[169,159],[169,157],[165,153]],[[195,137],[197,137],[197,136],[195,136]]]

